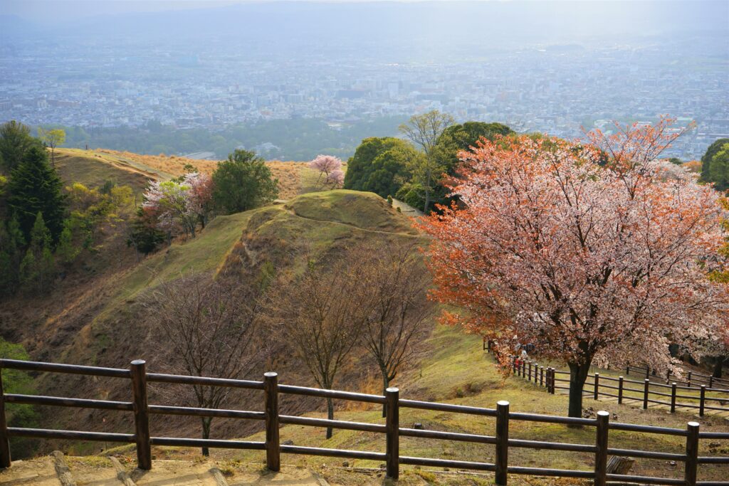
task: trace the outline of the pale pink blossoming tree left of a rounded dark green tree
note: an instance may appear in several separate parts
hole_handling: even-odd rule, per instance
[[[187,173],[180,180],[153,182],[144,192],[142,208],[155,214],[157,226],[169,233],[183,231],[195,238],[198,222],[205,227],[212,204],[210,176]]]

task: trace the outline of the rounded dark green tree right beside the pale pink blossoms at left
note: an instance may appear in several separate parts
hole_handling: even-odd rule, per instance
[[[213,203],[225,214],[270,203],[278,196],[278,179],[255,152],[237,149],[213,173]]]

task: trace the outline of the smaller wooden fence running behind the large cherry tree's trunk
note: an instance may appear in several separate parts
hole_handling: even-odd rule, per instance
[[[553,367],[541,367],[534,361],[523,360],[517,356],[512,356],[511,361],[512,372],[515,375],[545,387],[549,393],[555,393],[555,390],[560,389],[569,390],[569,372]],[[638,385],[639,388],[634,388],[632,385]],[[594,373],[588,375],[582,393],[593,396],[596,400],[601,396],[609,396],[617,399],[618,404],[624,401],[642,402],[644,409],[648,408],[648,404],[662,404],[669,407],[671,413],[676,412],[677,408],[698,409],[698,415],[701,417],[706,410],[729,412],[729,390],[707,388],[706,385],[699,385],[698,388],[695,385],[679,386],[676,381],[664,385],[652,382],[647,377],[644,380],[629,380],[622,376],[615,378]]]

